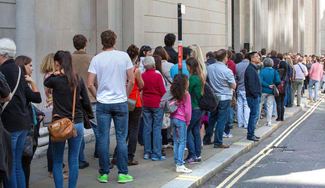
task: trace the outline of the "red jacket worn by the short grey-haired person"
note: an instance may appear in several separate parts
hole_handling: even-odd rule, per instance
[[[162,75],[154,69],[148,69],[141,74],[144,86],[142,89],[142,100],[144,107],[159,108],[162,96],[166,93],[162,81]]]

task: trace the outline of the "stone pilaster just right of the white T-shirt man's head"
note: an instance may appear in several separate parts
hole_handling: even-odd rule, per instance
[[[122,1],[122,51],[130,44],[140,49],[144,45],[144,2],[142,0]]]

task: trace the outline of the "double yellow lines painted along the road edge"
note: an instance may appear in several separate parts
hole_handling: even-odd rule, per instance
[[[319,101],[322,101],[324,99],[324,96],[321,97]],[[223,182],[221,182],[216,188],[222,188],[227,182],[229,182],[240,170],[247,167],[249,164],[252,163],[253,160],[257,159],[249,165],[246,169],[244,169],[236,178],[234,178],[227,186],[226,188],[230,188],[232,185],[234,185],[244,174],[248,172],[249,169],[251,169],[253,166],[255,166],[263,157],[267,156],[273,149],[271,148],[274,143],[276,143],[279,139],[279,142],[274,144],[275,147],[277,147],[298,125],[300,125],[306,118],[312,114],[315,109],[320,105],[320,102],[315,103],[311,108],[309,108],[304,115],[302,115],[299,119],[297,119],[294,123],[292,123],[284,132],[282,132],[276,139],[274,139],[270,144],[268,144],[264,149],[262,149],[258,154],[256,154],[254,157],[246,161],[245,164],[240,166],[238,169],[236,169],[230,176],[228,176]],[[293,127],[293,128],[292,128]],[[292,128],[292,129],[291,129]],[[291,129],[291,130],[290,130]],[[290,131],[289,131],[290,130]],[[285,135],[284,135],[285,134]],[[283,136],[284,135],[284,136]],[[265,151],[268,150],[266,153]]]

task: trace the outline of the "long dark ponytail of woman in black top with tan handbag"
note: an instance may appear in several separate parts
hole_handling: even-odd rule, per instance
[[[58,51],[54,57],[54,61],[57,61],[60,66],[60,71],[63,69],[63,76],[66,77],[68,82],[68,87],[72,92],[75,87],[78,86],[78,81],[80,81],[80,76],[74,72],[71,53],[68,51]],[[77,80],[78,78],[78,80]]]

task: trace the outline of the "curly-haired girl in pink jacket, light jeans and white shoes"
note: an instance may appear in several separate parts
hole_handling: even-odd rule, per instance
[[[186,145],[186,130],[191,120],[191,96],[188,93],[188,76],[175,74],[170,92],[178,106],[175,112],[170,113],[170,122],[174,135],[174,160],[176,172],[190,173],[192,170],[184,166],[183,156]]]

